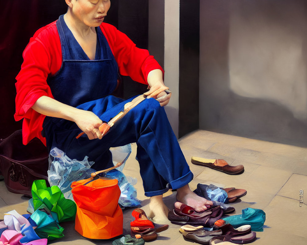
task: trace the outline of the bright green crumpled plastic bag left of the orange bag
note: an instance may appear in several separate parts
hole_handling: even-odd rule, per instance
[[[35,180],[32,184],[34,211],[41,205],[57,213],[59,222],[75,220],[77,206],[70,199],[66,199],[57,186],[47,187],[45,179]]]

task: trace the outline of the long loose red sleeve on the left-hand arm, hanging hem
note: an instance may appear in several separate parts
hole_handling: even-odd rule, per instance
[[[16,112],[14,118],[22,125],[23,143],[27,144],[37,137],[45,144],[41,135],[45,115],[34,111],[31,107],[41,96],[53,98],[47,77],[53,75],[61,67],[62,51],[60,37],[55,22],[39,29],[30,39],[23,52],[24,62],[16,77]]]

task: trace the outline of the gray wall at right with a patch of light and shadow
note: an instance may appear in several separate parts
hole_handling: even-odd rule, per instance
[[[307,1],[200,1],[200,128],[307,146]]]

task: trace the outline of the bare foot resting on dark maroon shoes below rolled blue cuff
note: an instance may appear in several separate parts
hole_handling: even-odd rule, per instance
[[[194,208],[197,212],[207,210],[208,206],[206,205],[213,205],[213,203],[206,198],[196,195],[188,185],[177,189],[177,200]]]

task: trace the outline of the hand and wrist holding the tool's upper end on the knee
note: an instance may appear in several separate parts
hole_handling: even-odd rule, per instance
[[[148,74],[147,81],[150,87],[150,89],[144,93],[147,99],[154,98],[160,102],[161,106],[167,105],[172,93],[165,92],[165,90],[169,88],[164,85],[161,70],[152,70]]]

